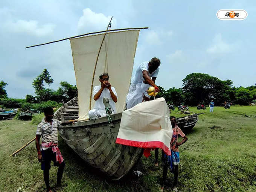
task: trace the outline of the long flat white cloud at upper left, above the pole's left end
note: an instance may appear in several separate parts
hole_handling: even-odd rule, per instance
[[[35,35],[37,37],[46,36],[53,33],[53,29],[55,27],[54,24],[43,24],[39,25],[38,21],[35,20],[18,20],[16,22],[7,21],[6,26],[12,32],[16,33],[27,33],[30,35]]]

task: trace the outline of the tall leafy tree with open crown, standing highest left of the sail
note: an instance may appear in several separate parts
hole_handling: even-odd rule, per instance
[[[34,79],[32,85],[35,88],[35,94],[38,101],[47,101],[50,99],[51,94],[53,93],[52,89],[44,88],[44,82],[50,85],[53,83],[53,79],[50,78],[50,73],[47,69],[44,69],[43,72]]]

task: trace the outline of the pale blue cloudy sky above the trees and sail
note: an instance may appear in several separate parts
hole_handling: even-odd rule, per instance
[[[243,21],[221,21],[219,9],[244,9]],[[9,97],[34,95],[32,81],[47,69],[59,82],[75,85],[69,40],[24,49],[74,35],[111,29],[141,30],[134,69],[153,56],[161,59],[157,85],[182,87],[189,73],[231,79],[236,87],[256,83],[256,3],[251,1],[0,1],[0,81]]]

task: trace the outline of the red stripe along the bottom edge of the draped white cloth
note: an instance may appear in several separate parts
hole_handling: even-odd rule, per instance
[[[171,151],[169,150],[168,146],[166,146],[163,142],[160,141],[147,141],[147,142],[141,142],[141,141],[132,141],[127,139],[120,139],[116,138],[116,143],[122,144],[122,145],[128,145],[133,147],[139,147],[139,148],[160,148],[163,149],[165,154],[171,155]]]

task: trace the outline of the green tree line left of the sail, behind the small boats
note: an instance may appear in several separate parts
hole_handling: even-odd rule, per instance
[[[35,96],[26,95],[26,99],[8,98],[6,90],[4,89],[6,82],[0,82],[0,107],[2,108],[20,108],[21,110],[29,110],[31,108],[43,111],[45,107],[60,107],[62,100],[67,102],[77,96],[76,85],[70,85],[67,81],[61,81],[58,90],[46,88],[44,84],[53,83],[53,79],[47,69],[37,76],[32,82],[35,88]]]

